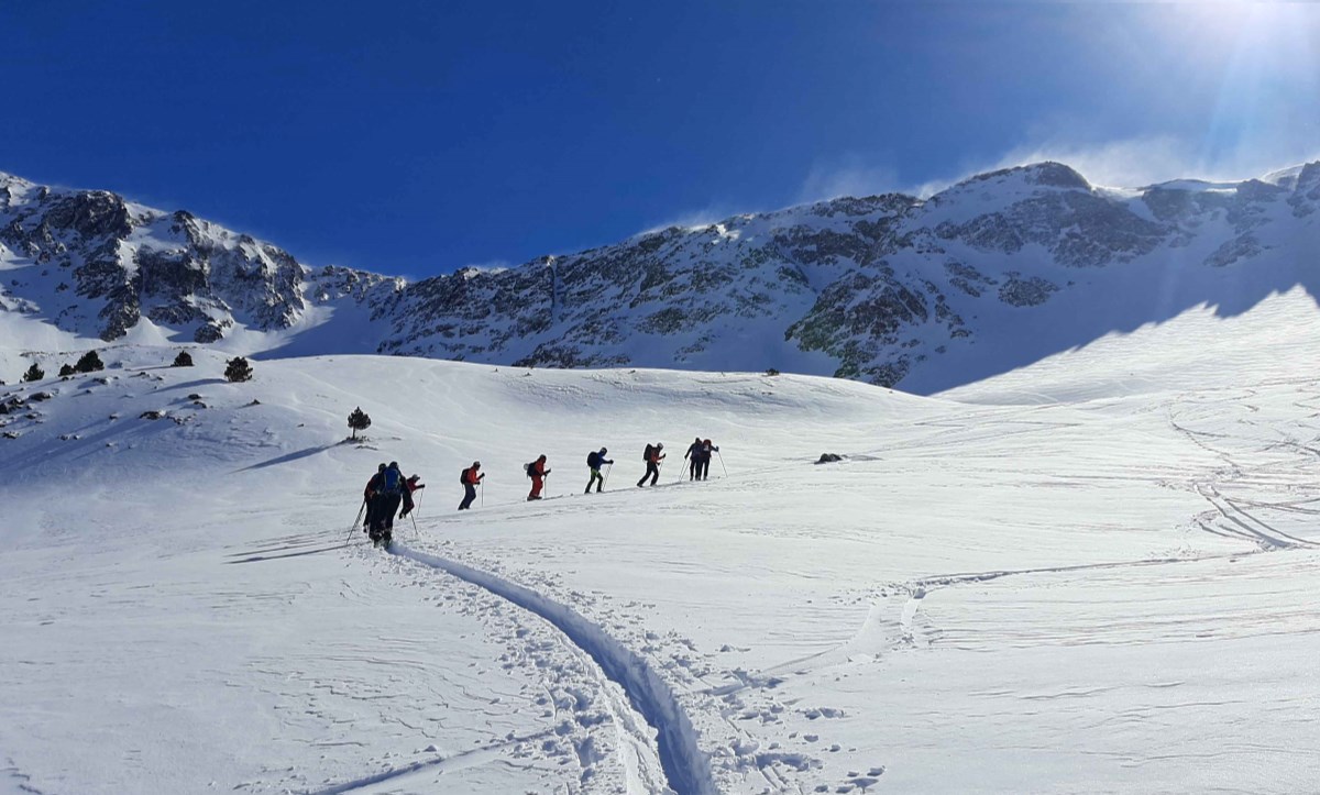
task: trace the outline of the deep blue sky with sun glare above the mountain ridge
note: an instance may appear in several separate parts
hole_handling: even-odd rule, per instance
[[[1320,157],[1320,7],[3,3],[0,170],[428,276],[1045,157]]]

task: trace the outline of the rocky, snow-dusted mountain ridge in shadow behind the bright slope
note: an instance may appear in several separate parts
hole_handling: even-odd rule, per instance
[[[1317,209],[1320,162],[1133,190],[1043,162],[924,201],[841,198],[409,284],[312,269],[183,211],[0,177],[0,328],[26,341],[5,316],[38,320],[61,330],[54,349],[774,367],[935,392],[1195,306],[1317,294]]]

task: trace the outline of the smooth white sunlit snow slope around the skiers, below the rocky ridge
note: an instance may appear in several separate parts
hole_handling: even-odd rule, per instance
[[[0,792],[1312,791],[1313,317],[937,398],[150,346],[3,387],[54,396],[0,416]],[[389,460],[392,555],[350,527]]]

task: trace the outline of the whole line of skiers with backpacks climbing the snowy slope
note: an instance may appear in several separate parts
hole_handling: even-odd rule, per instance
[[[706,474],[710,470],[710,457],[713,453],[718,453],[719,448],[710,442],[709,438],[702,440],[700,436],[693,440],[688,446],[688,452],[684,453],[684,458],[688,461],[688,479],[689,481],[705,481]],[[597,493],[605,490],[605,481],[607,477],[602,474],[601,470],[606,466],[612,466],[614,461],[606,458],[609,450],[601,448],[599,450],[593,450],[586,457],[586,466],[590,470],[590,477],[586,482],[586,489],[583,494],[591,493],[591,486],[595,486]],[[643,461],[645,461],[647,471],[638,481],[638,487],[645,486],[647,481],[655,486],[660,479],[660,467],[665,458],[664,444],[648,444],[645,450],[642,453]],[[550,474],[550,469],[545,466],[545,456],[539,456],[536,461],[523,465],[523,470],[527,477],[532,481],[532,490],[527,495],[527,501],[532,502],[541,499],[541,491],[545,487],[545,481]],[[473,502],[477,501],[477,489],[486,479],[486,473],[482,471],[482,462],[473,461],[473,465],[462,471],[459,475],[459,482],[463,486],[463,501],[458,503],[459,511],[466,511],[473,507]],[[363,532],[366,532],[372,543],[375,544],[388,544],[393,537],[395,527],[395,514],[403,519],[411,514],[416,506],[413,502],[413,494],[420,489],[426,486],[420,482],[418,475],[412,475],[404,478],[403,471],[399,469],[397,461],[391,461],[389,464],[381,464],[376,470],[376,474],[367,481],[367,487],[363,490],[362,501],[366,506],[366,519],[363,520]],[[420,499],[420,498],[418,498]],[[403,510],[400,511],[400,504]]]

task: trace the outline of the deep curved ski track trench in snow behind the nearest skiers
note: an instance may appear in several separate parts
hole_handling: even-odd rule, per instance
[[[669,787],[678,795],[717,795],[710,761],[697,745],[692,720],[645,659],[581,613],[529,588],[446,557],[409,549],[397,541],[389,552],[484,588],[554,625],[623,688],[634,709],[656,730],[660,766]]]

